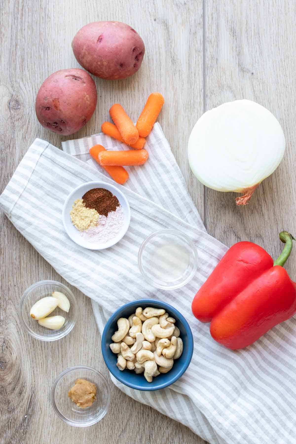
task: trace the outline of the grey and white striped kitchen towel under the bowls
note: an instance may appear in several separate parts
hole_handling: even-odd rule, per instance
[[[213,341],[209,326],[193,317],[193,296],[227,248],[206,233],[158,124],[146,142],[149,162],[141,168],[130,167],[130,180],[118,186],[131,208],[130,228],[122,240],[107,250],[91,251],[67,237],[62,208],[71,190],[93,180],[112,182],[89,159],[88,149],[96,143],[107,149],[126,148],[102,134],[67,141],[64,152],[36,139],[0,196],[0,206],[55,270],[92,298],[101,333],[115,309],[141,297],[166,301],[188,320],[194,338],[193,358],[174,385],[139,392],[112,377],[114,384],[187,425],[209,443],[295,443],[296,320],[273,328],[246,349],[231,351]],[[156,290],[143,281],[138,270],[139,246],[161,228],[181,230],[198,249],[197,273],[181,289]]]

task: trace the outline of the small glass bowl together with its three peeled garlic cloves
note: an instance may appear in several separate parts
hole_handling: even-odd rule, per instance
[[[20,323],[40,341],[57,341],[73,329],[77,303],[66,285],[57,281],[40,281],[23,294],[19,305]]]

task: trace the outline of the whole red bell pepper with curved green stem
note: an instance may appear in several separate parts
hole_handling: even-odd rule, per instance
[[[296,283],[283,268],[292,239],[287,231],[280,233],[285,246],[275,262],[252,242],[229,248],[192,302],[194,316],[211,322],[215,341],[241,349],[296,313]]]

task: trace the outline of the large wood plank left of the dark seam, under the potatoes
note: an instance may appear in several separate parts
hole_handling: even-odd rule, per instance
[[[60,147],[66,139],[43,129],[34,111],[43,80],[59,69],[78,67],[71,40],[84,24],[119,20],[133,26],[146,44],[140,71],[130,79],[95,79],[98,106],[91,121],[72,138],[100,131],[109,107],[120,102],[136,119],[152,91],[166,99],[159,117],[190,192],[203,215],[203,188],[189,172],[186,146],[202,110],[201,0],[6,0],[1,3],[0,162],[4,189],[32,141]],[[184,116],[186,115],[186,119]],[[70,136],[71,138],[71,136]],[[91,302],[71,288],[79,304],[75,329],[45,344],[21,329],[17,307],[24,290],[42,279],[66,283],[0,213],[0,441],[1,443],[204,443],[188,428],[130,399],[114,387],[100,353]],[[51,409],[49,391],[64,369],[85,364],[111,385],[111,407],[93,427],[64,424]],[[150,427],[139,424],[150,424]]]

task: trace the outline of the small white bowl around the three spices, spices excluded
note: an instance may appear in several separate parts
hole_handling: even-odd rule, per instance
[[[118,198],[120,205],[122,206],[122,210],[124,211],[124,224],[122,229],[119,231],[117,236],[110,239],[108,242],[99,243],[99,242],[89,242],[86,241],[80,234],[80,231],[72,224],[70,212],[72,210],[72,206],[76,199],[82,199],[82,196],[92,188],[105,188],[109,190],[114,196]],[[116,186],[111,185],[107,182],[87,182],[82,185],[77,186],[75,190],[73,190],[67,199],[65,200],[63,207],[63,224],[69,238],[72,239],[76,244],[88,248],[89,250],[103,250],[105,248],[109,248],[115,245],[120,239],[126,234],[126,231],[130,225],[130,205],[127,202],[126,197],[122,194],[121,191],[116,188]]]

